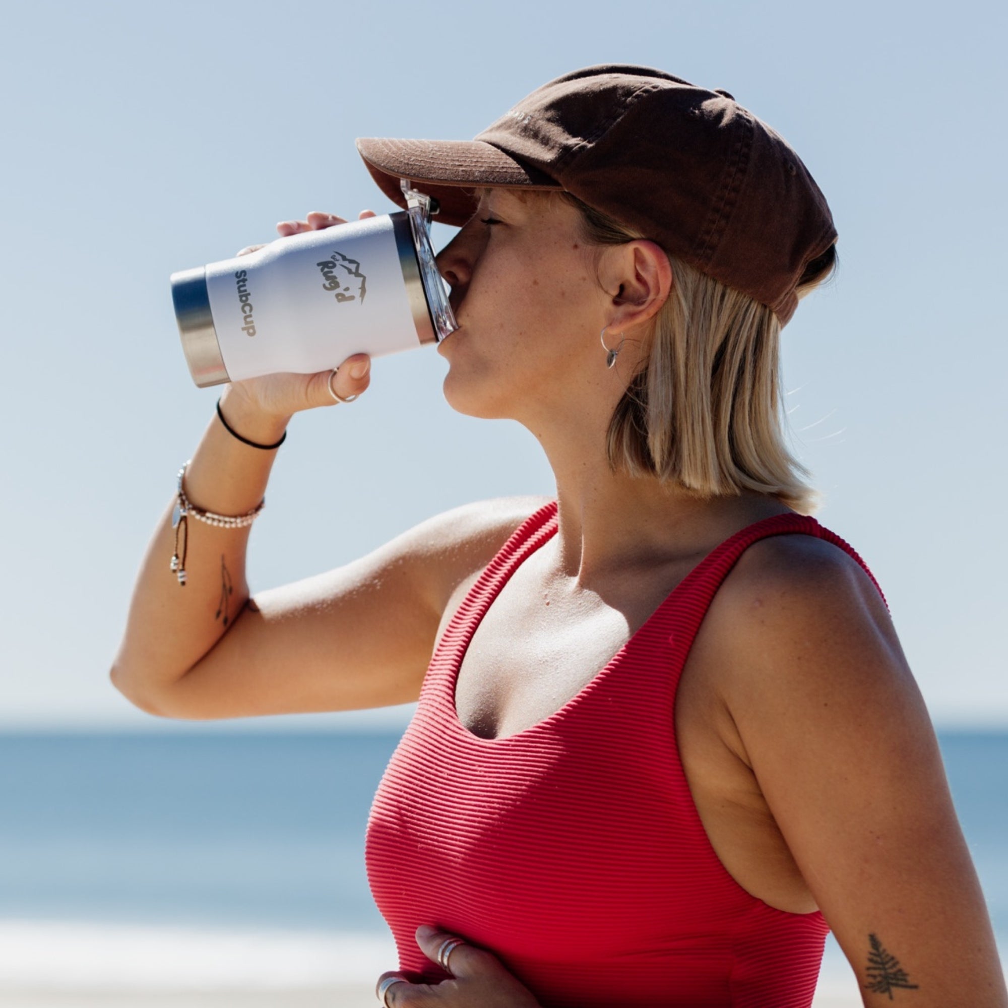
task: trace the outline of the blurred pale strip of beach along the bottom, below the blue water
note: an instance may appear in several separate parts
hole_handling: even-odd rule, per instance
[[[373,1008],[396,963],[372,934],[5,920],[0,1006]],[[827,957],[813,1008],[861,1008],[846,969]]]

